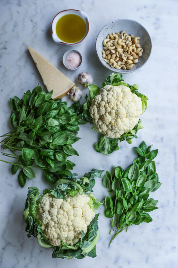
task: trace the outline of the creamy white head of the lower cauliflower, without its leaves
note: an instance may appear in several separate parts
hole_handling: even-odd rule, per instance
[[[54,246],[60,246],[61,240],[66,244],[76,244],[81,238],[81,231],[87,228],[95,217],[90,208],[90,198],[86,193],[66,199],[53,198],[46,193],[37,206],[36,221],[42,222],[44,235]]]

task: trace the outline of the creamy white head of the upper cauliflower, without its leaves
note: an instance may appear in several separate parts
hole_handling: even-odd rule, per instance
[[[89,112],[99,132],[119,138],[138,124],[142,101],[129,87],[105,85],[92,100]]]

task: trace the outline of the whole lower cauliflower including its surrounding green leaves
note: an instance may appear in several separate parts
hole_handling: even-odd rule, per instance
[[[96,257],[100,231],[94,209],[103,203],[86,192],[93,192],[94,178],[100,178],[102,172],[92,169],[82,178],[73,173],[42,195],[37,187],[29,188],[23,213],[27,237],[33,235],[42,247],[51,247],[53,258]]]

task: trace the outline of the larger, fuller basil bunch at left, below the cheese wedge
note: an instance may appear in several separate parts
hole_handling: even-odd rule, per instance
[[[21,187],[27,178],[35,178],[34,168],[43,169],[46,181],[55,184],[59,178],[70,176],[75,166],[67,158],[78,155],[72,144],[80,139],[78,125],[85,124],[83,106],[77,102],[68,107],[61,99],[52,100],[52,94],[37,86],[32,92],[28,90],[23,99],[10,98],[12,131],[1,136],[1,145],[10,150],[3,155],[14,158],[15,163],[1,161],[12,164],[12,174],[21,168]]]

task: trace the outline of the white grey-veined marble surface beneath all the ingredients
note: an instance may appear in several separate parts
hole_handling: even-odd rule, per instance
[[[74,49],[81,52],[83,65],[77,71],[68,71],[62,65],[62,55],[70,47],[58,45],[51,37],[53,17],[64,9],[79,9],[90,19],[90,31],[86,40]],[[138,83],[140,91],[149,97],[148,109],[141,117],[145,128],[132,145],[122,142],[120,150],[109,157],[94,151],[92,145],[98,134],[89,124],[81,126],[81,139],[74,144],[79,157],[71,157],[76,163],[73,171],[82,176],[92,168],[110,170],[113,165],[126,168],[134,159],[132,147],[142,140],[153,149],[158,148],[157,173],[162,186],[151,193],[158,199],[159,210],[150,213],[153,221],[131,226],[112,242],[110,248],[110,220],[104,217],[100,207],[100,239],[97,257],[82,260],[52,259],[51,249],[41,248],[36,239],[28,239],[22,220],[27,187],[43,190],[48,184],[38,172],[21,189],[17,176],[11,175],[11,166],[0,162],[0,215],[1,236],[0,267],[109,267],[109,268],[176,268],[177,263],[177,1],[27,1],[1,0],[0,26],[0,135],[10,130],[9,97],[22,97],[42,79],[27,51],[31,46],[53,65],[76,81],[79,72],[93,75],[100,85],[110,74],[97,59],[95,40],[99,31],[112,20],[129,18],[141,23],[152,39],[152,54],[147,64],[137,72],[124,75],[129,84]],[[87,89],[83,90],[85,96]],[[66,100],[67,98],[64,98]],[[84,101],[84,97],[82,99]],[[1,155],[1,158],[3,155]],[[5,159],[5,157],[3,157]],[[6,159],[7,160],[7,159]],[[96,179],[94,193],[102,200],[106,194],[101,180]]]

